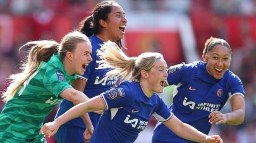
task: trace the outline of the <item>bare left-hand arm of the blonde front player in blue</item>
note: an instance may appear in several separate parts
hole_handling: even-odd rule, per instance
[[[44,124],[40,130],[40,134],[43,132],[46,137],[51,137],[58,131],[59,127],[67,121],[75,119],[76,117],[79,117],[85,113],[99,110],[105,110],[105,103],[100,95],[91,98],[87,102],[70,108],[53,122]]]

